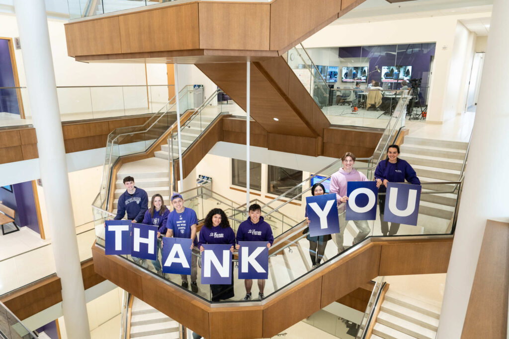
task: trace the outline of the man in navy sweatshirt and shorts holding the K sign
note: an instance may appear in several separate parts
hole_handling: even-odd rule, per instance
[[[249,206],[249,217],[239,225],[237,230],[237,250],[240,249],[239,241],[267,241],[267,248],[270,248],[274,242],[272,229],[270,225],[263,221],[262,208],[259,204],[252,204]],[[252,279],[244,280],[246,287],[246,296],[244,300],[251,300],[251,287],[253,286]],[[265,279],[258,279],[258,289],[260,292],[258,296],[260,299],[264,298],[263,290],[265,288]]]

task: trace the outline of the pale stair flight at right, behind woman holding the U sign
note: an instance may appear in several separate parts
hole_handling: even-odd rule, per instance
[[[421,182],[458,181],[468,142],[405,137],[401,158],[415,169]],[[454,184],[425,185],[426,191],[452,191]],[[453,218],[458,192],[421,194],[419,213],[436,218]]]

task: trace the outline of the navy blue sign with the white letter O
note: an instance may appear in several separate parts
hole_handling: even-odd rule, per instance
[[[376,181],[349,181],[347,183],[346,220],[377,219]]]

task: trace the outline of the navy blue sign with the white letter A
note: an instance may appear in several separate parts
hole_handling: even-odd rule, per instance
[[[162,272],[191,274],[191,239],[162,238]]]

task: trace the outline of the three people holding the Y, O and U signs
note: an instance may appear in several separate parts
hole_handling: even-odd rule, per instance
[[[377,182],[379,193],[386,193],[388,182],[405,182],[405,180],[407,180],[412,184],[420,184],[420,180],[417,177],[415,170],[412,168],[412,166],[410,166],[408,162],[403,159],[399,159],[399,154],[400,146],[390,145],[387,148],[387,159],[378,163],[375,169],[375,181]],[[330,177],[330,193],[336,194],[336,201],[338,206],[337,211],[340,220],[340,232],[334,234],[334,240],[337,245],[337,253],[341,253],[345,250],[343,238],[345,229],[348,225],[348,221],[345,219],[346,202],[348,201],[347,184],[349,181],[368,180],[363,173],[357,171],[353,167],[355,164],[355,156],[351,152],[346,152],[341,160],[343,167],[332,174]],[[314,196],[325,194],[325,188],[323,184],[315,183],[311,188],[311,194]],[[385,194],[378,195],[378,205],[382,234],[384,236],[396,234],[400,228],[400,224],[391,223],[389,227],[389,224],[383,220],[385,211]],[[305,217],[307,224],[309,224],[310,220],[307,218],[307,212]],[[366,220],[355,220],[353,223],[359,232],[353,239],[352,245],[364,239],[371,232],[370,226]],[[315,268],[320,265],[320,261],[322,260],[325,253],[327,241],[332,239],[332,236],[330,234],[310,236],[308,230],[308,228],[304,229],[303,234],[307,233],[306,239],[309,240],[309,256],[311,257],[313,268]]]

